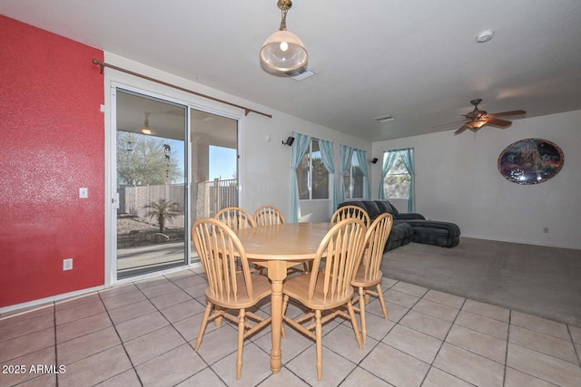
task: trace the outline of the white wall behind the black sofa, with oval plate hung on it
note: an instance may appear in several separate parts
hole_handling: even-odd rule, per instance
[[[476,136],[444,131],[373,143],[383,151],[415,149],[416,210],[426,218],[457,223],[462,236],[581,249],[581,111],[514,121],[506,130],[484,127]],[[498,156],[517,140],[540,138],[564,153],[563,169],[535,185],[503,178]],[[373,166],[378,198],[381,162]],[[543,228],[548,227],[548,234]]]

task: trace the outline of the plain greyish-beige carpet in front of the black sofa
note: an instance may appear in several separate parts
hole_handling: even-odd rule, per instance
[[[581,327],[581,250],[462,237],[385,253],[383,276]]]

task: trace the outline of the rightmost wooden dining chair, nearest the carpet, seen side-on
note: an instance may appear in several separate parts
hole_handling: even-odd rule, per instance
[[[363,336],[363,343],[367,343],[367,322],[365,319],[365,304],[369,303],[369,295],[375,295],[379,298],[379,304],[386,320],[388,319],[388,309],[385,306],[383,299],[383,290],[381,288],[381,280],[383,274],[381,273],[381,259],[383,258],[383,250],[385,244],[388,242],[389,233],[393,226],[393,217],[391,214],[384,213],[379,215],[371,226],[369,226],[365,234],[364,252],[361,257],[359,268],[356,271],[355,278],[351,285],[359,291],[359,307],[355,310],[359,312],[361,319],[361,335]],[[369,289],[375,286],[376,290]],[[353,299],[355,304],[356,298]]]

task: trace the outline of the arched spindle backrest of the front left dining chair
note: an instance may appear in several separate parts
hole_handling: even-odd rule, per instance
[[[225,303],[236,303],[238,292],[244,288],[252,297],[251,269],[246,252],[230,227],[213,218],[202,218],[193,225],[192,239],[208,276],[210,292],[215,298]],[[236,276],[240,266],[245,287],[238,283],[240,277]]]

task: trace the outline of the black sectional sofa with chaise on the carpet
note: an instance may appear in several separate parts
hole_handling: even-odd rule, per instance
[[[389,234],[385,251],[407,245],[409,242],[425,243],[440,247],[455,247],[460,243],[458,225],[439,220],[428,220],[417,213],[400,213],[389,200],[353,200],[341,203],[344,206],[358,206],[365,209],[373,221],[380,214],[388,212],[393,216],[393,227]]]

